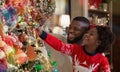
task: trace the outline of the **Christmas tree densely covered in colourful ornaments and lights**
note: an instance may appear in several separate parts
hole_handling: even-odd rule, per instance
[[[0,1],[1,71],[58,72],[36,31],[54,11],[54,0]]]

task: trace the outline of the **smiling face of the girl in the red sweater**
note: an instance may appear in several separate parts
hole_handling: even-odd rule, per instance
[[[86,46],[98,46],[99,45],[98,33],[97,33],[96,28],[90,29],[87,33],[84,34],[83,44]]]

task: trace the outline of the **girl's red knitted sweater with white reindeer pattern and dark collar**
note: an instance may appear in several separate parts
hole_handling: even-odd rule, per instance
[[[72,57],[74,72],[110,72],[108,60],[101,53],[89,55],[82,46],[66,44],[45,32],[41,38],[54,49]]]

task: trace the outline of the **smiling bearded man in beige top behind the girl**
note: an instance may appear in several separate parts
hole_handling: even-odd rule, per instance
[[[80,44],[83,34],[89,29],[89,27],[90,23],[87,18],[77,16],[72,20],[69,28],[67,29],[67,39],[62,35],[52,35],[56,36],[64,42]],[[64,54],[54,50],[48,45],[47,48],[51,52],[51,60],[58,62],[59,72],[72,72],[72,64],[68,56],[65,56]]]

